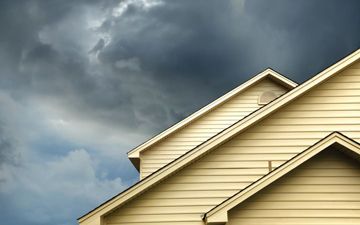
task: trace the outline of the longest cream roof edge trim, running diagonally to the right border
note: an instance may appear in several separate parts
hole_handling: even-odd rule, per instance
[[[83,222],[93,216],[105,215],[106,213],[109,213],[110,211],[114,210],[116,207],[119,207],[125,202],[135,198],[136,196],[138,196],[148,188],[159,183],[160,181],[174,174],[178,170],[184,168],[185,166],[187,166],[197,158],[203,156],[205,153],[207,153],[214,147],[229,140],[232,136],[236,135],[242,130],[245,130],[249,126],[265,118],[267,115],[279,109],[281,106],[296,99],[298,96],[304,94],[306,91],[322,83],[323,81],[330,78],[337,72],[343,70],[347,66],[351,65],[353,62],[355,62],[358,59],[360,59],[360,49],[348,55],[347,57],[340,60],[336,64],[325,69],[324,71],[320,72],[319,74],[309,79],[308,81],[304,82],[303,84],[297,86],[292,91],[285,93],[284,95],[278,97],[277,99],[273,100],[264,107],[259,108],[258,110],[249,114],[242,120],[226,128],[222,132],[218,133],[214,137],[202,143],[201,145],[188,151],[187,153],[177,158],[176,160],[172,161],[171,163],[158,169],[156,172],[152,173],[151,175],[142,179],[138,183],[134,184],[132,187],[126,189],[125,191],[121,192],[120,194],[114,196],[105,203],[96,207],[92,211],[83,215],[78,219],[78,221]]]

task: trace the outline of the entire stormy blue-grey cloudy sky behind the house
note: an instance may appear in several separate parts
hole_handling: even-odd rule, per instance
[[[360,47],[351,0],[1,0],[0,221],[75,225],[138,180],[126,152],[262,70]]]

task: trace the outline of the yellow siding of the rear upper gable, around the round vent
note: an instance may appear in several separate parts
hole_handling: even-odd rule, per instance
[[[262,105],[257,104],[258,97],[264,91],[273,91],[279,96],[287,92],[287,89],[265,78],[242,91],[221,106],[142,152],[140,178],[148,176],[261,107]]]

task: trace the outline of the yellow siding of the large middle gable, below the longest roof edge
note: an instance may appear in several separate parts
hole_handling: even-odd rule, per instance
[[[349,80],[351,83],[346,83]],[[277,167],[332,131],[360,141],[360,63],[238,134],[105,220],[108,224],[202,224],[201,214],[265,175],[268,160]],[[337,164],[332,165],[337,168]]]

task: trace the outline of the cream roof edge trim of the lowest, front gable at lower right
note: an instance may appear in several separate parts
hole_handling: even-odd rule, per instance
[[[340,148],[336,148],[336,150],[345,150],[350,153],[351,156],[360,157],[360,144],[356,141],[346,137],[345,135],[334,132],[330,135],[326,136],[322,140],[318,141],[308,149],[303,152],[297,154],[295,157],[279,166],[275,170],[271,171],[267,175],[263,176],[256,182],[249,185],[247,188],[239,191],[232,197],[228,198],[221,204],[215,206],[213,209],[208,211],[204,215],[204,220],[206,224],[222,224],[228,221],[228,211],[232,208],[236,207],[240,203],[244,202],[246,199],[250,198],[257,192],[261,191],[265,187],[269,186],[276,180],[283,177],[285,174],[289,173],[293,169],[297,168],[299,165],[303,164],[310,158],[314,157],[318,153],[327,149],[330,146],[338,145]]]

